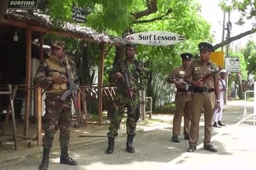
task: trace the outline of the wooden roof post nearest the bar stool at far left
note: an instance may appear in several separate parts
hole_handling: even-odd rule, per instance
[[[25,112],[24,112],[24,136],[27,137],[30,117],[30,85],[31,85],[31,29],[27,27],[26,33],[26,90],[25,90]]]

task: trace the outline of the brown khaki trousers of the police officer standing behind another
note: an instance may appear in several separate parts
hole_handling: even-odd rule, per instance
[[[189,135],[191,121],[191,93],[176,93],[172,136],[178,136],[181,134],[182,116],[184,116],[184,135]]]

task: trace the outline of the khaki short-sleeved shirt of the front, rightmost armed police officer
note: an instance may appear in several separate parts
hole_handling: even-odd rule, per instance
[[[210,74],[210,77],[206,79],[204,87],[214,89],[214,80],[219,80],[219,72],[217,65],[213,61],[209,61],[207,65],[203,65],[200,60],[192,61],[190,67],[187,69],[185,77],[191,77],[192,80],[197,81],[205,77],[207,74]]]

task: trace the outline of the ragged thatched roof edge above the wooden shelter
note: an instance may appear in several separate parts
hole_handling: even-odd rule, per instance
[[[79,24],[65,23],[60,27],[53,27],[50,16],[46,14],[27,14],[24,12],[7,11],[5,20],[15,20],[24,24],[29,24],[30,26],[54,30],[56,33],[68,33],[78,38],[87,39],[88,41],[106,42],[110,44],[124,44],[126,42],[126,39],[121,37],[99,33],[90,27],[83,27]]]

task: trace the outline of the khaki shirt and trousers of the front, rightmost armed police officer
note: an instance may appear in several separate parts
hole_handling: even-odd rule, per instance
[[[206,74],[211,76],[205,80],[203,87],[194,87],[194,95],[192,96],[192,119],[190,126],[190,145],[197,146],[197,141],[199,139],[199,123],[202,110],[204,111],[204,146],[211,145],[212,136],[212,120],[213,111],[216,103],[216,96],[214,93],[214,80],[219,78],[216,73],[216,64],[209,61],[207,65],[198,61],[192,61],[190,67],[188,68],[185,77],[191,77],[192,80],[200,80],[200,78],[205,77]]]

